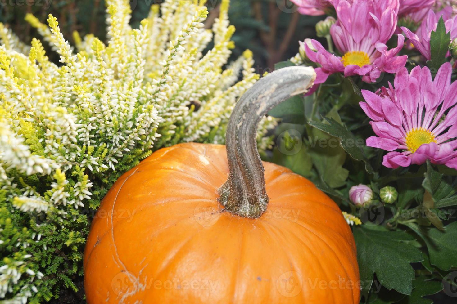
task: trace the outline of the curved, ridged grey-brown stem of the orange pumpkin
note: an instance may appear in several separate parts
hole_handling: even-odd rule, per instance
[[[230,173],[219,188],[219,202],[233,214],[258,218],[268,196],[257,150],[257,126],[274,106],[307,92],[316,79],[311,67],[288,67],[266,75],[241,96],[227,126],[226,148]]]

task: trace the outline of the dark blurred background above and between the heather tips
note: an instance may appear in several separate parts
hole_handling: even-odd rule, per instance
[[[132,25],[148,15],[150,5],[163,0],[131,0]],[[220,0],[208,0],[208,21],[218,16]],[[23,42],[40,37],[24,16],[34,14],[46,22],[48,14],[57,17],[65,39],[72,43],[72,32],[81,36],[93,33],[102,40],[106,37],[105,3],[103,0],[0,0],[0,22],[10,27]],[[245,49],[254,52],[257,72],[270,72],[274,63],[287,60],[298,52],[298,40],[315,38],[314,25],[322,17],[298,14],[289,0],[231,0],[230,22],[236,27],[233,56]],[[209,22],[207,24],[209,26]],[[47,50],[48,51],[48,50]],[[51,59],[55,53],[48,52]],[[270,70],[269,70],[270,69]]]

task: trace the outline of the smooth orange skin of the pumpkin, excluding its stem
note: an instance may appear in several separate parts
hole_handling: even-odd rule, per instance
[[[306,178],[263,162],[267,211],[223,210],[225,146],[160,149],[113,185],[84,254],[87,302],[358,304],[356,245]]]

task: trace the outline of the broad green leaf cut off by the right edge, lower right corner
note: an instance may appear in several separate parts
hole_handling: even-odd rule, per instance
[[[457,267],[457,222],[447,225],[445,231],[436,228],[423,229],[414,223],[406,225],[424,240],[430,264],[442,270]]]

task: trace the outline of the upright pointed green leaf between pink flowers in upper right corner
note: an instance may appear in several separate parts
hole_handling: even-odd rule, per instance
[[[427,62],[430,69],[434,69],[435,73],[446,62],[446,54],[451,43],[451,33],[446,33],[446,25],[441,16],[436,26],[436,31],[430,34],[430,53],[431,60]],[[433,71],[432,71],[433,72]]]

